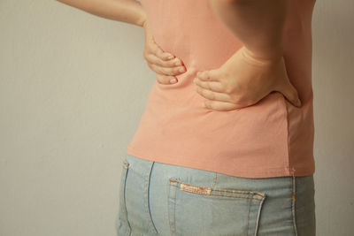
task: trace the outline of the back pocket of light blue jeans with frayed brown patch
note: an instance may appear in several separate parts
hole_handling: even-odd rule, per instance
[[[169,179],[171,235],[252,235],[258,232],[265,193],[192,185]]]

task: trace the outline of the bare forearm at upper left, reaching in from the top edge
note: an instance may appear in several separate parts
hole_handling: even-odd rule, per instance
[[[146,19],[142,4],[135,0],[57,0],[93,15],[142,26]]]

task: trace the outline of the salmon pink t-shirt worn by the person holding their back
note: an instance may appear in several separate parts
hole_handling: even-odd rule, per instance
[[[145,160],[244,178],[305,176],[315,171],[312,110],[314,0],[290,0],[284,60],[302,107],[280,92],[239,110],[209,110],[193,83],[217,69],[242,43],[215,15],[209,0],[141,0],[155,42],[181,58],[178,82],[156,80],[127,153]],[[157,76],[161,76],[157,74]]]

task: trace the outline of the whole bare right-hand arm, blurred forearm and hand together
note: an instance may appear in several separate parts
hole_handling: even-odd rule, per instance
[[[300,107],[285,67],[282,29],[289,0],[209,0],[213,11],[244,45],[216,70],[197,72],[196,92],[210,110],[236,110],[272,91]]]

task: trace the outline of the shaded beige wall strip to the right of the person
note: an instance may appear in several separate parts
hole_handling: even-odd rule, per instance
[[[354,235],[354,1],[317,0],[312,21],[317,227]]]

